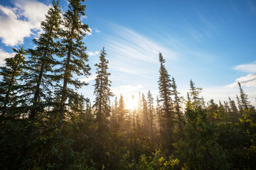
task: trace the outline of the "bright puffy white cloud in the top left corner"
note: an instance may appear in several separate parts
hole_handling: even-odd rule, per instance
[[[9,46],[22,44],[23,38],[40,31],[40,23],[50,7],[36,0],[13,2],[14,8],[0,5],[0,38]]]

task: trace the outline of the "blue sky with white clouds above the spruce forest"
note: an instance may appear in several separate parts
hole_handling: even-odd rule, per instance
[[[68,1],[61,0],[62,11]],[[82,23],[92,75],[80,89],[94,100],[95,66],[105,46],[112,92],[131,100],[139,91],[159,94],[159,52],[186,98],[189,82],[203,88],[206,102],[236,101],[238,81],[256,106],[256,1],[87,0]],[[0,64],[12,47],[33,48],[50,0],[0,1]],[[129,102],[128,102],[129,103]]]

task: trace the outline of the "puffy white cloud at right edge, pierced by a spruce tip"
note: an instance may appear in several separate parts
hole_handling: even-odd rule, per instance
[[[239,77],[233,84],[228,84],[225,88],[233,88],[238,86],[238,81],[242,86],[256,86],[256,74],[248,74],[245,77]]]

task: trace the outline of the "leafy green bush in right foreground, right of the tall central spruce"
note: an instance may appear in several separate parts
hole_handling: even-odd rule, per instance
[[[215,141],[214,127],[208,123],[206,110],[186,108],[184,139],[175,144],[176,155],[185,169],[228,169],[225,154]]]

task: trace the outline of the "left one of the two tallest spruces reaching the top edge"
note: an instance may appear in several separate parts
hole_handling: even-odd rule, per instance
[[[53,66],[56,61],[54,55],[58,47],[58,31],[60,28],[60,1],[53,1],[53,8],[48,10],[46,20],[41,22],[43,33],[33,43],[36,49],[28,49],[28,63],[26,74],[26,91],[24,96],[31,103],[31,113],[29,117],[33,120],[38,111],[49,106],[52,101],[51,96],[53,84]]]

